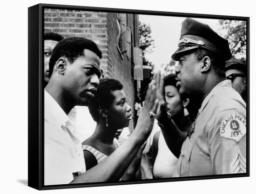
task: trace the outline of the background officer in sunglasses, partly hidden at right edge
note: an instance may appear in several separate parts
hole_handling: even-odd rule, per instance
[[[247,99],[246,69],[246,65],[234,57],[226,61],[226,78],[231,80],[232,87],[241,95],[245,102]]]

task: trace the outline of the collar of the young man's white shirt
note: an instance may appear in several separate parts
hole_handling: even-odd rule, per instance
[[[69,120],[61,106],[46,90],[44,91],[44,116],[47,120],[53,120],[58,126],[62,126]]]

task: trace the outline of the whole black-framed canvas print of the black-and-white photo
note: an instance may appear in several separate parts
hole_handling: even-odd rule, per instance
[[[248,17],[38,4],[28,66],[30,187],[249,176]]]

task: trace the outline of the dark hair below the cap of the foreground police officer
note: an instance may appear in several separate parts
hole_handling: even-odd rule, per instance
[[[205,56],[211,60],[211,66],[216,71],[216,74],[225,77],[225,59],[208,49],[198,48],[194,51],[196,59],[199,61]]]

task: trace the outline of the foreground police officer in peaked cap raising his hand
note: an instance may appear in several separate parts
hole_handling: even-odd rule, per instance
[[[181,95],[200,104],[187,136],[166,114],[162,76],[156,76],[160,109],[156,118],[169,149],[177,156],[180,176],[246,173],[246,104],[225,78],[229,44],[208,25],[182,22],[175,72]]]

